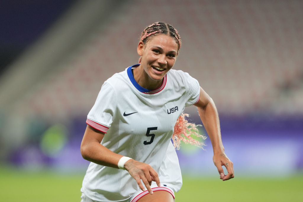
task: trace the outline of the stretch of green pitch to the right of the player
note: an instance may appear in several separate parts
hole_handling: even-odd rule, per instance
[[[176,193],[176,202],[186,201],[303,201],[303,176],[286,179],[237,178],[192,179],[183,177],[183,186]],[[188,198],[188,200],[186,200]]]

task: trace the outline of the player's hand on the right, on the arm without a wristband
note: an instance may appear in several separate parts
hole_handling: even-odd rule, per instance
[[[231,162],[231,160],[229,160],[225,153],[214,154],[213,161],[218,169],[221,180],[225,181],[235,177],[233,163]],[[226,167],[226,170],[228,172],[227,175],[224,174],[222,166]]]

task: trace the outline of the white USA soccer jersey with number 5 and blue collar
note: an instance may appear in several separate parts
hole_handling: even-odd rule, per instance
[[[104,82],[86,123],[106,133],[102,145],[151,165],[161,184],[178,191],[182,178],[171,136],[185,106],[198,102],[200,86],[188,73],[171,69],[161,87],[149,91],[133,77],[137,66]],[[90,163],[81,190],[95,201],[120,201],[138,189],[127,171]]]

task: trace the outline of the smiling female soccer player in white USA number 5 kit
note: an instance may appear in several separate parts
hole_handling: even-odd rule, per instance
[[[182,178],[171,138],[178,145],[181,136],[174,128],[184,122],[182,112],[190,105],[198,108],[210,137],[220,179],[234,177],[213,100],[188,73],[171,69],[180,47],[174,27],[149,25],[138,44],[139,64],[102,85],[81,143],[83,158],[91,161],[81,189],[83,202],[174,201]]]

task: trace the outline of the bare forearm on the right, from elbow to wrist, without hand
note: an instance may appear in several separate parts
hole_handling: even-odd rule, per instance
[[[224,147],[221,140],[220,121],[218,111],[212,99],[204,108],[198,107],[199,116],[211,140],[214,154],[224,153]]]

